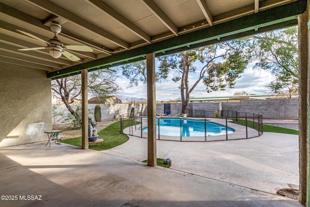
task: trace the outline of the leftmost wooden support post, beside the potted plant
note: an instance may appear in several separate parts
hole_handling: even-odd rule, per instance
[[[82,149],[88,149],[88,95],[87,95],[87,70],[82,74]]]

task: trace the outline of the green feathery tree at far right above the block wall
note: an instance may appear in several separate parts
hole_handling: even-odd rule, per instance
[[[248,52],[256,68],[270,71],[276,80],[268,86],[273,93],[292,97],[298,90],[298,28],[266,32],[248,40]]]

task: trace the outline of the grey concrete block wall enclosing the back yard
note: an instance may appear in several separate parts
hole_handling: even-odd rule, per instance
[[[119,118],[121,114],[130,113],[131,104],[99,104],[101,107],[102,120],[113,119],[114,115]],[[64,104],[54,105],[57,111],[64,114],[69,113]],[[78,105],[76,105],[78,106]],[[74,107],[76,107],[74,106]],[[96,104],[89,104],[88,108],[94,111]],[[177,115],[182,111],[182,103],[171,103],[172,115]],[[264,118],[298,118],[298,99],[268,99],[268,100],[241,100],[240,102],[193,102],[189,103],[188,110],[204,110],[205,117],[214,117],[216,110],[235,110],[241,112],[262,113]],[[147,104],[135,104],[135,111],[142,111],[142,115],[147,115]],[[164,113],[164,104],[156,104],[156,114]],[[89,114],[93,118],[93,114]],[[61,116],[53,117],[53,124],[62,124],[58,121]],[[94,120],[94,118],[93,118]]]

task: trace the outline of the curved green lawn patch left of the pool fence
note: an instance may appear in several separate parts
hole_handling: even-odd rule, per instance
[[[121,145],[129,140],[128,136],[121,133],[120,122],[115,122],[109,127],[104,128],[98,132],[98,139],[103,139],[102,145],[97,144],[97,149],[93,150],[102,151]],[[75,146],[82,146],[82,137],[61,140],[61,143],[67,143]]]

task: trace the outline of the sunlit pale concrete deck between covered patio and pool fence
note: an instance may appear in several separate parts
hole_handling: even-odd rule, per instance
[[[124,158],[147,159],[147,139],[106,150]],[[264,132],[245,140],[175,142],[157,140],[157,158],[172,159],[171,169],[276,194],[298,189],[298,135]]]

